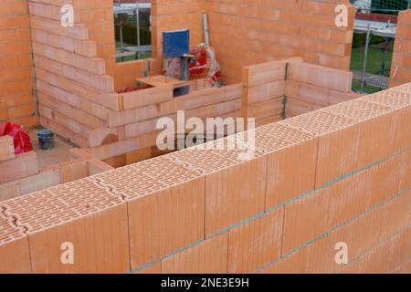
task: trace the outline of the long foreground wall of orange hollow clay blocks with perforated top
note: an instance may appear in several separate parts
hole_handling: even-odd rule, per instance
[[[239,133],[246,160],[200,145],[5,201],[0,271],[409,273],[410,118],[406,84]]]

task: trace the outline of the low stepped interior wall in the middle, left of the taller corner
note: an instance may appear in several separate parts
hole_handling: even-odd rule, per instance
[[[170,86],[143,89],[121,95],[123,110],[111,110],[108,127],[90,131],[90,153],[100,159],[119,158],[135,162],[153,156],[158,134],[158,119],[169,117],[176,123],[177,110],[184,110],[186,119],[196,117],[241,116],[241,85],[235,84],[221,89],[202,89],[173,98]],[[110,141],[111,132],[121,131],[122,139]],[[130,159],[127,159],[129,154]],[[125,163],[123,163],[125,164]]]

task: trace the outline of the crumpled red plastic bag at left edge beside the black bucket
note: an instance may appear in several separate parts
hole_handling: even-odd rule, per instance
[[[26,130],[20,125],[12,122],[0,123],[0,136],[11,136],[15,144],[15,153],[21,154],[28,151],[33,151],[33,145],[30,142]]]

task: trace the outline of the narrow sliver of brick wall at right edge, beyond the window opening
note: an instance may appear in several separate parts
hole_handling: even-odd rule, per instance
[[[411,9],[398,15],[390,87],[411,82]]]

